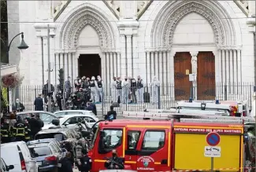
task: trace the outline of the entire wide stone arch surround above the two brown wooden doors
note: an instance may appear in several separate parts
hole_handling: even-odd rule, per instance
[[[162,5],[151,28],[151,46],[172,46],[176,26],[189,13],[198,13],[208,20],[217,45],[236,44],[236,31],[232,20],[219,2],[187,0]]]

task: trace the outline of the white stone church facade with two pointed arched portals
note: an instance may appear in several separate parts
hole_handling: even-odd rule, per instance
[[[176,96],[208,86],[200,99],[217,82],[254,82],[254,1],[8,1],[8,21],[9,38],[24,31],[29,46],[9,53],[24,85],[46,82],[48,54],[54,84],[60,68],[65,79],[102,75],[106,83],[157,76]]]

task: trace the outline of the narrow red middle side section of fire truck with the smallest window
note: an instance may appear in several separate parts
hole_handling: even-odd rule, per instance
[[[132,128],[127,129],[126,143],[125,143],[125,164],[132,167],[133,170],[137,169],[137,156],[138,156],[138,144],[139,138],[142,134],[142,129]]]

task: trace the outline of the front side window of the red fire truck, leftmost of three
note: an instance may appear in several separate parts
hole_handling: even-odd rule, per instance
[[[106,129],[101,131],[100,147],[108,150],[121,145],[123,132],[121,129]]]

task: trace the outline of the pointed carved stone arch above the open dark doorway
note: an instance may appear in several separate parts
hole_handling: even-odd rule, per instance
[[[98,33],[100,47],[102,49],[112,49],[114,47],[113,30],[108,20],[97,11],[87,7],[80,9],[74,16],[66,21],[61,33],[64,49],[76,49],[80,32],[87,25],[91,25]]]

